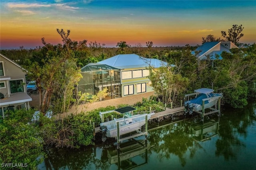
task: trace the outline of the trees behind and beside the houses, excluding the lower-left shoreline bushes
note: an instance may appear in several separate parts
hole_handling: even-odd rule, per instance
[[[237,45],[243,37],[242,25],[232,25],[221,31],[226,41]],[[177,102],[184,94],[197,88],[214,88],[224,93],[223,104],[232,107],[243,107],[249,97],[255,97],[255,44],[248,48],[231,49],[231,53],[222,53],[221,61],[199,61],[185,47],[153,47],[153,42],[146,42],[147,47],[131,47],[126,41],[117,43],[118,48],[105,48],[105,44],[87,40],[73,41],[69,38],[70,30],[56,29],[62,37],[62,44],[52,45],[42,38],[43,47],[26,50],[2,50],[1,53],[16,61],[28,70],[28,76],[36,81],[40,94],[40,111],[55,109],[64,113],[79,99],[76,86],[81,78],[80,68],[88,63],[96,63],[118,54],[134,53],[146,58],[160,59],[175,67],[156,70],[150,74],[154,90],[164,98],[163,102]],[[202,43],[219,41],[214,35],[202,37]],[[218,58],[218,56],[217,56]],[[152,68],[154,69],[154,68]],[[153,73],[153,72],[152,72]],[[164,87],[164,88],[162,88]],[[74,95],[75,94],[75,95]]]

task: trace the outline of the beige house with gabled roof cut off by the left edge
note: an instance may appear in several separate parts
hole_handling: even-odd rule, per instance
[[[7,110],[29,109],[32,98],[26,93],[24,69],[8,57],[0,54],[0,117]]]

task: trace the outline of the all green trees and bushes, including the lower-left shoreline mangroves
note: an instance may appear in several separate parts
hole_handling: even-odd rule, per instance
[[[230,29],[228,35],[224,33],[227,40],[227,36],[232,35],[232,30],[236,29]],[[256,44],[248,45],[247,48],[231,49],[231,53],[223,52],[222,60],[198,61],[191,54],[196,47],[190,45],[153,47],[153,42],[148,41],[147,47],[141,47],[139,44],[131,47],[125,41],[120,41],[117,43],[118,48],[105,48],[104,44],[96,41],[90,42],[89,45],[86,40],[73,41],[69,38],[70,30],[57,29],[57,33],[62,37],[62,44],[52,45],[42,38],[44,46],[37,49],[26,50],[21,47],[17,50],[1,50],[3,55],[26,68],[30,79],[36,81],[42,114],[48,109],[52,109],[55,114],[64,113],[79,101],[76,87],[81,78],[82,66],[121,53],[135,53],[168,63],[168,66],[159,69],[149,68],[152,70],[149,76],[152,86],[166,104],[178,104],[184,94],[198,88],[212,87],[216,92],[223,93],[222,104],[232,107],[243,107],[248,99],[256,98]],[[233,33],[236,35],[237,31]],[[209,37],[211,36],[202,40],[216,41],[208,39]],[[238,37],[242,35],[239,34]],[[32,115],[33,110],[18,110],[15,114],[9,113],[8,119],[0,123],[1,150],[4,150],[6,157],[4,159],[1,156],[1,162],[19,162],[26,158],[33,169],[40,162],[36,156],[44,155],[43,144],[57,147],[92,145],[93,134],[89,120],[100,122],[98,111],[94,111],[87,115],[69,115],[59,121],[41,119],[40,126],[28,125]]]

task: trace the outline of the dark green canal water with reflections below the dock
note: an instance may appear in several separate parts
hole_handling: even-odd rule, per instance
[[[256,169],[256,104],[213,114],[149,124],[145,137],[121,144],[47,149],[40,170],[252,170]],[[143,147],[144,146],[144,147]],[[145,147],[146,146],[146,147]],[[118,163],[119,162],[119,163]]]

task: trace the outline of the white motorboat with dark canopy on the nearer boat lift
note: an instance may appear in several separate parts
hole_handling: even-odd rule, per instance
[[[133,131],[138,131],[146,123],[147,119],[150,119],[151,113],[137,114],[134,115],[133,111],[136,110],[134,107],[126,106],[120,109],[115,109],[116,111],[123,115],[122,118],[116,119],[107,122],[100,123],[100,133],[102,133],[102,141],[106,140],[106,137],[117,137],[117,124],[119,124],[119,135],[124,135]],[[106,113],[111,113],[112,111],[107,111]],[[104,112],[100,112],[102,117]]]

